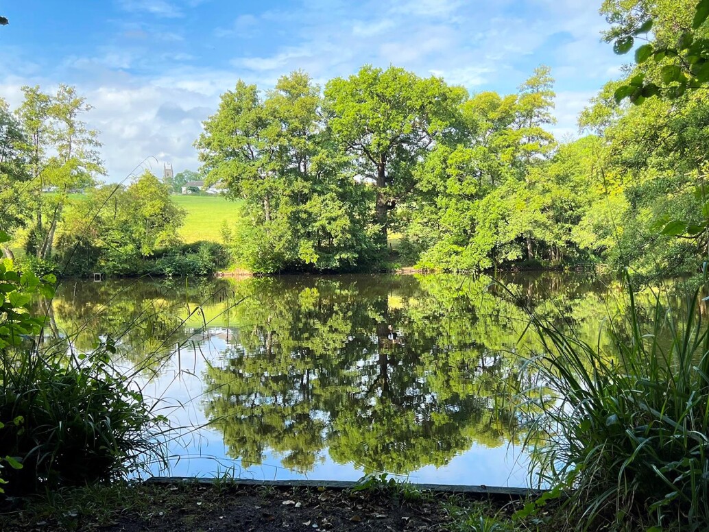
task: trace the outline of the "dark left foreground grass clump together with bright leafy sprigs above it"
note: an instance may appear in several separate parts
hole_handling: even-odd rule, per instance
[[[0,264],[0,456],[13,493],[115,480],[164,461],[165,420],[111,366],[110,338],[88,356],[70,340],[43,345],[45,316],[33,314],[31,297],[51,297],[54,281]]]

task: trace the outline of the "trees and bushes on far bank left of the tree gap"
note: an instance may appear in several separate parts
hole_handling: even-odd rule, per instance
[[[215,243],[185,245],[185,211],[170,199],[199,177],[145,170],[105,184],[92,107],[74,87],[23,87],[14,111],[0,98],[0,229],[6,258],[39,274],[209,275],[227,258]],[[11,238],[10,238],[11,237]],[[23,248],[15,257],[13,247]],[[17,259],[17,260],[16,260]]]

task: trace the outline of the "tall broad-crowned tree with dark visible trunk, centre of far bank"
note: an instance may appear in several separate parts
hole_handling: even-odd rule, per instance
[[[389,211],[413,188],[413,168],[427,150],[454,135],[467,93],[437,77],[364,66],[325,87],[328,126],[354,155],[360,177],[376,185],[376,222],[386,243]]]

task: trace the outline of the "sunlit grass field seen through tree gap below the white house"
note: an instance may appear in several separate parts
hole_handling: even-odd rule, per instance
[[[221,196],[172,196],[175,204],[187,211],[179,233],[186,243],[198,240],[221,242],[223,221],[233,227],[239,219],[239,204]]]

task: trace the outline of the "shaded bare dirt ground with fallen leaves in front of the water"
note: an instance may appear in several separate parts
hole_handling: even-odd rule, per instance
[[[87,490],[60,504],[5,512],[2,530],[19,531],[441,531],[450,496],[413,489],[360,492],[323,488],[141,485],[133,492]],[[458,500],[460,502],[460,500]]]

